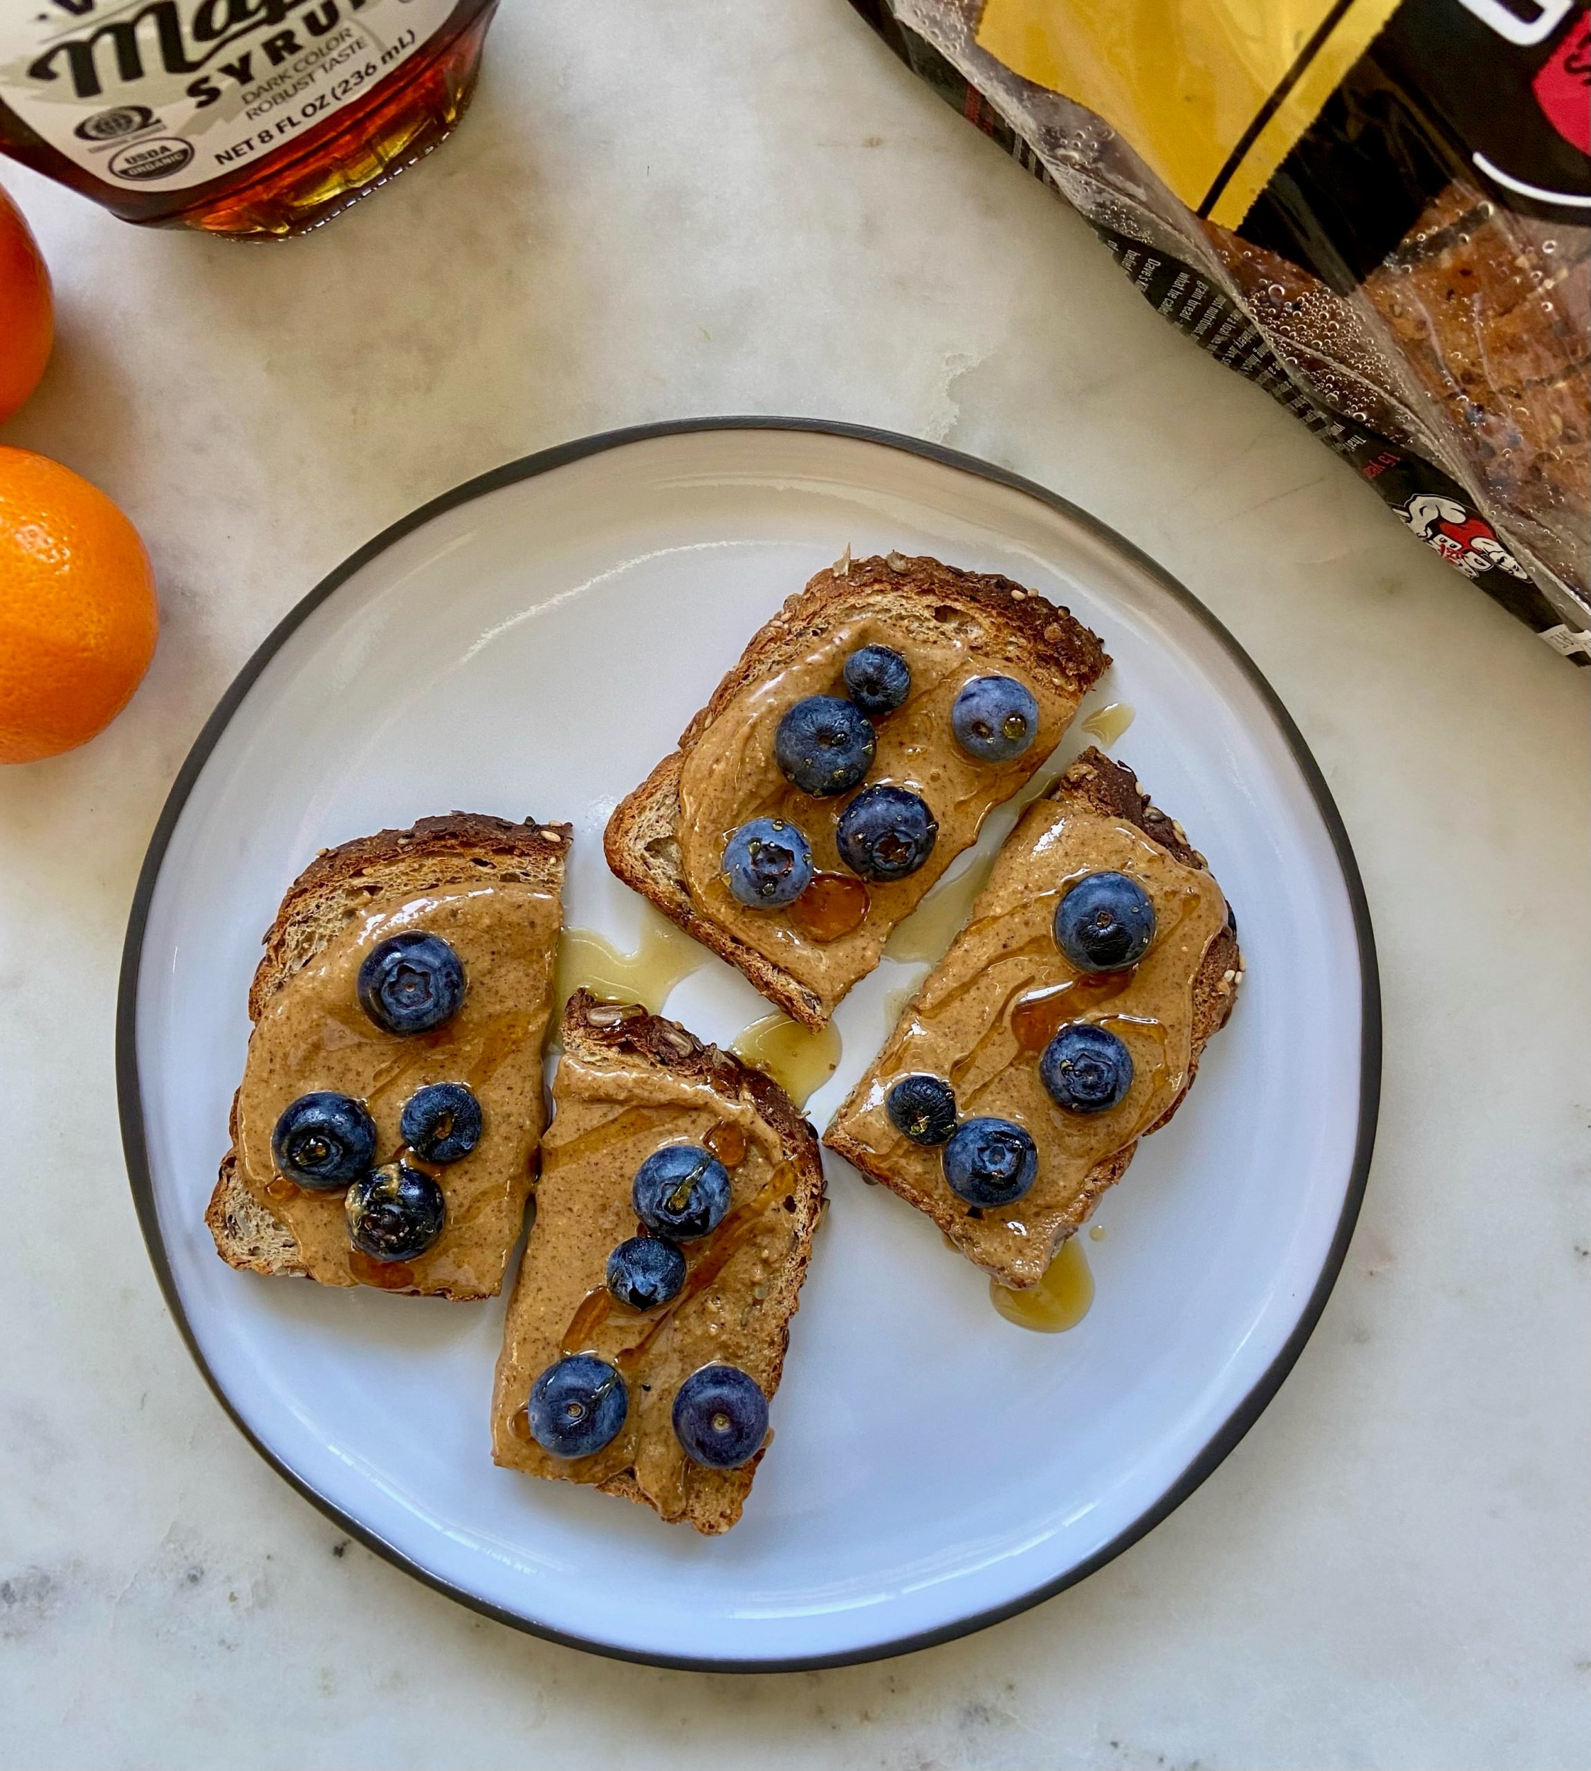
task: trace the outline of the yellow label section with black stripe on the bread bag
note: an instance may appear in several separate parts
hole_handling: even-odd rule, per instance
[[[1398,0],[987,0],[978,46],[1235,228]]]

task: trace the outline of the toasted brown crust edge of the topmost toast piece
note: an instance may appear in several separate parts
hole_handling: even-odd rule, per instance
[[[659,834],[663,829],[677,831],[680,772],[686,756],[710,721],[748,682],[778,669],[783,655],[797,645],[801,629],[808,622],[870,592],[912,595],[935,607],[944,602],[960,604],[997,618],[1024,641],[1033,664],[1058,671],[1079,698],[1093,687],[1111,662],[1098,634],[1036,590],[1028,590],[994,572],[964,572],[960,567],[944,565],[927,554],[912,558],[886,554],[845,560],[840,567],[827,567],[817,572],[804,590],[788,597],[783,607],[751,636],[739,662],[730,668],[707,705],[680,733],[679,746],[613,809],[602,832],[602,854],[609,870],[625,886],[650,900],[693,940],[700,940],[721,960],[728,960],[755,990],[792,1020],[813,1029],[827,1025],[829,1020],[817,992],[808,990],[765,955],[702,916],[687,891],[673,882],[664,882],[645,862],[643,843],[657,839],[657,834],[647,834],[648,825],[657,825]]]

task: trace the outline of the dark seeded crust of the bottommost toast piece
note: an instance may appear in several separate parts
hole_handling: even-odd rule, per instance
[[[796,1203],[790,1215],[796,1247],[781,1268],[778,1286],[767,1298],[769,1369],[772,1373],[769,1396],[772,1396],[785,1369],[790,1318],[801,1302],[801,1282],[806,1279],[806,1266],[811,1259],[811,1238],[826,1203],[817,1132],[771,1077],[741,1063],[732,1052],[703,1045],[679,1022],[648,1015],[647,1009],[633,1002],[604,1002],[588,990],[576,990],[563,1009],[563,1052],[569,1057],[586,1061],[604,1056],[625,1057],[691,1082],[705,1082],[725,1100],[753,1107],[778,1135],[781,1155],[796,1171],[788,1195]],[[758,1450],[739,1470],[693,1470],[689,1502],[675,1523],[695,1525],[709,1537],[726,1532],[741,1518],[764,1450]],[[595,1486],[604,1495],[620,1495],[624,1500],[656,1511],[654,1502],[629,1470],[620,1470]]]

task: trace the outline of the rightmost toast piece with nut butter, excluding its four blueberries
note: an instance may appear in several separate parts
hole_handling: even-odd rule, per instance
[[[1100,870],[1145,886],[1157,933],[1130,971],[1088,976],[1061,956],[1052,917],[1067,886]],[[925,1211],[1001,1284],[1036,1286],[1139,1137],[1176,1112],[1205,1041],[1231,1013],[1242,963],[1237,921],[1205,857],[1130,769],[1088,749],[1017,822],[966,926],[824,1142]],[[1107,1024],[1132,1052],[1132,1089],[1107,1112],[1063,1112],[1038,1079],[1040,1052],[1070,1020]],[[895,1128],[886,1098],[909,1073],[948,1079],[960,1119],[1003,1118],[1033,1137],[1038,1172],[1022,1199],[969,1206],[944,1179],[943,1149]]]

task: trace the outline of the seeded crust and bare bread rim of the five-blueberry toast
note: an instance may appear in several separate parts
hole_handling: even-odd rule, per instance
[[[939,560],[895,553],[870,560],[850,560],[847,554],[819,572],[806,590],[787,599],[753,636],[739,664],[686,726],[679,747],[618,802],[602,834],[602,854],[625,886],[650,898],[671,923],[728,960],[762,995],[806,1027],[827,1022],[819,995],[696,910],[680,861],[679,783],[686,756],[741,689],[788,666],[815,638],[863,606],[888,613],[904,632],[982,618],[989,623],[990,639],[980,643],[980,650],[987,650],[990,659],[997,655],[1026,662],[1035,673],[1056,673],[1079,698],[1111,662],[1097,634],[1036,590],[997,574],[962,572]],[[1015,643],[1013,653],[1003,650],[1008,641]]]

